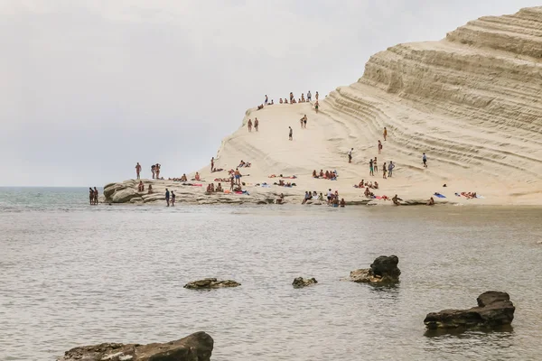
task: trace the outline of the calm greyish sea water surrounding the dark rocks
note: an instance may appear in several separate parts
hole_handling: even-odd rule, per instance
[[[0,189],[0,360],[207,331],[212,360],[542,359],[540,208],[87,205]],[[397,255],[393,288],[341,282]],[[294,290],[297,276],[318,285]],[[186,282],[233,279],[194,292]],[[429,311],[509,292],[513,329],[425,335]]]

